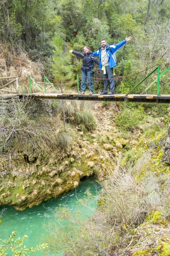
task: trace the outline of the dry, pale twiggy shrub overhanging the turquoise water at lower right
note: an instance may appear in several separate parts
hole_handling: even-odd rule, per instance
[[[45,242],[50,244],[48,253],[61,250],[65,256],[116,253],[116,248],[119,250],[120,247],[111,245],[121,246],[128,232],[144,221],[147,212],[161,209],[160,186],[156,175],[147,175],[138,181],[132,166],[121,167],[118,164],[116,169],[108,171],[93,216],[85,220],[84,210],[72,214],[67,207],[57,208],[56,224],[51,221],[45,226],[49,232],[45,237]],[[90,212],[91,201],[94,201],[93,197],[83,198],[79,203],[86,205]]]

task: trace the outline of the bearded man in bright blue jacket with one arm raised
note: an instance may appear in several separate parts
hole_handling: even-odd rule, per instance
[[[101,40],[101,47],[98,51],[93,52],[94,56],[99,56],[99,70],[102,70],[102,78],[104,80],[104,90],[100,94],[113,94],[114,93],[114,79],[113,79],[113,67],[116,66],[116,61],[114,59],[114,52],[116,52],[120,47],[126,44],[127,41],[130,41],[132,38],[126,37],[126,39],[119,44],[107,44],[105,39]],[[110,92],[108,93],[108,79],[110,81]]]

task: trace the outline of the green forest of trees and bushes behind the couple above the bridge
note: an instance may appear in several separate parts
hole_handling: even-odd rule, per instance
[[[70,55],[69,49],[81,52],[87,45],[95,51],[102,38],[109,44],[116,44],[131,35],[132,41],[116,53],[116,75],[129,76],[141,70],[146,71],[139,73],[139,76],[116,81],[116,92],[127,93],[153,69],[151,67],[160,64],[162,72],[169,63],[169,4],[170,0],[160,3],[156,0],[142,0],[140,3],[138,0],[129,0],[128,5],[125,0],[121,3],[118,0],[88,0],[85,3],[75,0],[2,0],[1,73],[4,73],[3,76],[19,73],[22,64],[26,66],[19,74],[23,84],[24,78],[26,80],[31,72],[37,79],[42,78],[42,73],[54,82],[69,79],[69,87],[75,88],[82,60]],[[26,59],[26,53],[32,61],[41,64],[35,68],[31,67],[28,60],[24,63],[21,56],[25,55]],[[96,72],[97,69],[95,67]],[[161,93],[169,91],[168,78],[169,72],[161,77]],[[156,74],[137,87],[134,93],[141,93],[153,79],[156,79]],[[96,81],[95,86],[101,90],[103,83]],[[156,89],[154,84],[147,93],[156,93]]]

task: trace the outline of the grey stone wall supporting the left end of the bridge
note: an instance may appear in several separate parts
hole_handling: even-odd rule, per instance
[[[18,108],[23,108],[31,118],[52,116],[51,99],[20,99],[18,95],[0,96],[0,117],[12,117]]]

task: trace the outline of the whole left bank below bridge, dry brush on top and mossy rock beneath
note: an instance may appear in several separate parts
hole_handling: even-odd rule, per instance
[[[38,205],[74,189],[83,177],[96,175],[101,181],[113,167],[111,156],[119,155],[119,151],[100,141],[99,132],[84,133],[80,125],[67,124],[64,128],[60,116],[51,117],[51,102],[31,102],[26,114],[23,103],[18,111],[8,109],[12,103],[17,105],[16,97],[10,104],[8,96],[2,99],[3,111],[8,115],[0,117],[0,205],[17,210]],[[50,108],[42,111],[46,117],[40,117],[43,104],[48,105],[46,110]]]

